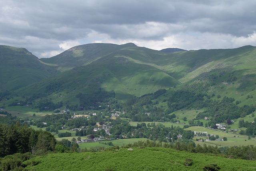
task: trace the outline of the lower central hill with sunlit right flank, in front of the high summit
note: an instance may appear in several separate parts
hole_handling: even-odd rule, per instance
[[[180,82],[151,65],[134,62],[124,56],[108,55],[86,66],[73,68],[30,85],[22,91],[28,95],[33,92],[44,93],[50,84],[59,85],[54,92],[62,91],[62,96],[67,98],[102,88],[106,91],[114,90],[118,99],[126,100],[173,87]]]

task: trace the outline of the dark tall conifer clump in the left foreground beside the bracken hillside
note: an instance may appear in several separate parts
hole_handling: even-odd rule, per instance
[[[56,140],[47,131],[39,129],[35,131],[27,125],[0,125],[0,156],[14,153],[37,153],[42,155],[48,151],[54,151]]]

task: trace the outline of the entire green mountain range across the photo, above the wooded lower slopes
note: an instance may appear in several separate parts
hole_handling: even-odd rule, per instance
[[[210,84],[210,91],[238,101],[246,99],[246,95],[255,95],[252,90],[256,80],[256,48],[253,46],[166,53],[132,43],[86,44],[40,60],[25,49],[6,46],[2,49],[5,51],[1,50],[1,59],[9,57],[1,63],[8,65],[1,73],[17,72],[2,76],[5,77],[2,80],[11,80],[8,81],[10,90],[19,88],[14,93],[18,96],[38,93],[53,101],[71,101],[75,105],[79,103],[75,97],[79,93],[113,90],[116,99],[126,101],[195,82]],[[15,63],[8,62],[11,59]]]

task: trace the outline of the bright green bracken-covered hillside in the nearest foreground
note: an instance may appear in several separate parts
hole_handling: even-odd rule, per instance
[[[220,170],[248,170],[256,168],[255,161],[228,159],[205,154],[187,153],[174,149],[146,147],[133,150],[120,148],[86,153],[57,153],[36,157],[25,161],[28,170],[89,170],[89,171],[115,171],[115,170],[204,170],[210,164],[216,164]],[[192,159],[186,166],[185,160]],[[34,164],[33,164],[34,163]]]

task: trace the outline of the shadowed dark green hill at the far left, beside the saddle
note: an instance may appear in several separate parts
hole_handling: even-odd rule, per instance
[[[12,91],[58,72],[25,48],[0,46],[0,73],[1,90]]]

